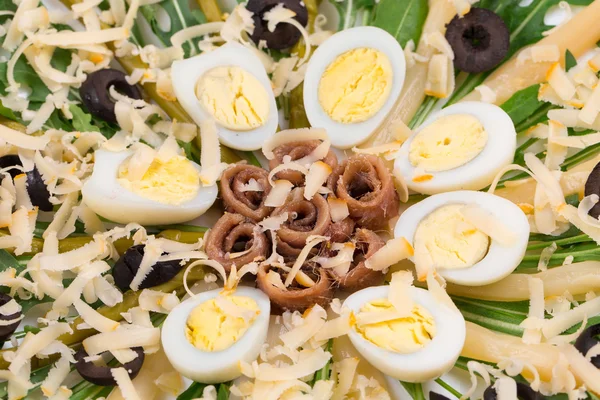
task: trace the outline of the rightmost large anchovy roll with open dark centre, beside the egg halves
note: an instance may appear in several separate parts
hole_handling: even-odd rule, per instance
[[[359,226],[379,229],[398,215],[399,198],[392,175],[383,161],[358,154],[341,164],[330,179],[335,195],[348,204],[350,217]]]

